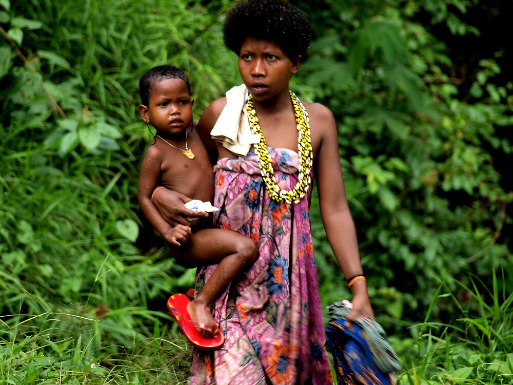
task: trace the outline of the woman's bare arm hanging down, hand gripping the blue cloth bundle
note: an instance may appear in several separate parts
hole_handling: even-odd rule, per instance
[[[354,222],[349,211],[340,166],[337,126],[333,114],[315,105],[311,125],[319,130],[320,145],[314,162],[315,182],[319,194],[321,218],[329,244],[342,268],[345,279],[363,274]],[[364,280],[351,287],[353,307],[349,319],[374,318]]]

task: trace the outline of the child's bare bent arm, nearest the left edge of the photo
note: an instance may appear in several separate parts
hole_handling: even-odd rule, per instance
[[[150,146],[141,164],[139,185],[137,186],[137,200],[139,200],[139,206],[144,216],[155,230],[168,242],[179,246],[179,241],[187,242],[190,239],[192,234],[190,227],[184,225],[171,226],[151,201],[151,195],[161,179],[161,159],[162,154],[159,149],[155,145]]]

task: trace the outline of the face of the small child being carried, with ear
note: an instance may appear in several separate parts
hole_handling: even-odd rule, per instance
[[[148,106],[139,112],[161,134],[179,134],[192,123],[192,104],[187,84],[182,79],[163,79],[152,85]]]

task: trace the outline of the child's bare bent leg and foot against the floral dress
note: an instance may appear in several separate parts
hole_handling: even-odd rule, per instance
[[[219,264],[205,282],[201,293],[187,306],[193,321],[212,325],[215,321],[210,311],[212,303],[236,276],[257,259],[258,246],[242,234],[221,228],[207,228],[192,235],[184,252],[183,257],[196,266]],[[212,337],[204,330],[200,333]],[[217,333],[219,330],[214,331],[214,336]]]

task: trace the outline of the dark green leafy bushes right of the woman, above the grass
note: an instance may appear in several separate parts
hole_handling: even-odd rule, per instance
[[[486,281],[501,263],[513,268],[502,233],[512,223],[513,191],[495,159],[513,150],[513,83],[494,83],[498,52],[483,57],[460,90],[447,70],[446,44],[418,22],[428,14],[447,34],[478,34],[456,15],[467,2],[300,4],[321,37],[297,83],[339,122],[346,192],[375,310],[400,330],[428,305],[440,277],[456,290],[452,279],[466,271]],[[312,221],[321,222],[317,213]],[[317,258],[327,253],[332,263],[322,228],[314,228]],[[347,293],[329,283],[331,274],[321,269],[329,292]],[[500,285],[513,289],[509,276]]]

